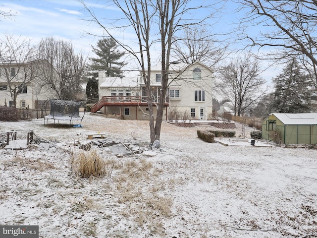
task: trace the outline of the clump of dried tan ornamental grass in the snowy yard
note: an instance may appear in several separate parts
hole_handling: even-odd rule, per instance
[[[82,178],[106,175],[106,163],[96,150],[82,151],[73,158],[73,170]]]

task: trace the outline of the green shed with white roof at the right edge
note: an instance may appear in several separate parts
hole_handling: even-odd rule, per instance
[[[273,113],[262,122],[262,138],[284,144],[317,144],[317,113]]]

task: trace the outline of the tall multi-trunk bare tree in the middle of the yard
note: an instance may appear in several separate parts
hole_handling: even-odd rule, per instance
[[[150,116],[150,139],[151,142],[159,140],[160,129],[163,117],[163,108],[166,92],[170,82],[169,67],[170,67],[170,54],[172,50],[173,37],[176,33],[188,25],[202,24],[211,14],[206,14],[198,20],[190,20],[191,12],[199,11],[203,5],[195,5],[197,2],[189,0],[112,0],[124,14],[124,19],[128,24],[124,26],[117,26],[117,28],[131,27],[137,37],[138,50],[117,40],[117,43],[129,54],[131,54],[140,66],[140,71],[146,87],[147,102],[149,106]],[[189,6],[189,2],[191,6]],[[215,2],[212,2],[214,4]],[[100,19],[94,14],[93,10],[82,4],[89,11],[93,17],[93,21],[99,24],[103,30],[112,38],[113,34],[111,29],[102,24]],[[116,19],[118,20],[118,19]],[[117,23],[116,23],[117,24]],[[154,95],[151,89],[151,49],[159,43],[160,45],[160,62],[161,62],[161,87],[159,90],[159,101],[156,103],[157,118],[154,118]]]

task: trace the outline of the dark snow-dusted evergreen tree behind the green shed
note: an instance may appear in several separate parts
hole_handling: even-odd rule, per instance
[[[297,60],[291,60],[276,78],[272,109],[276,113],[306,113],[310,111],[310,82]]]

